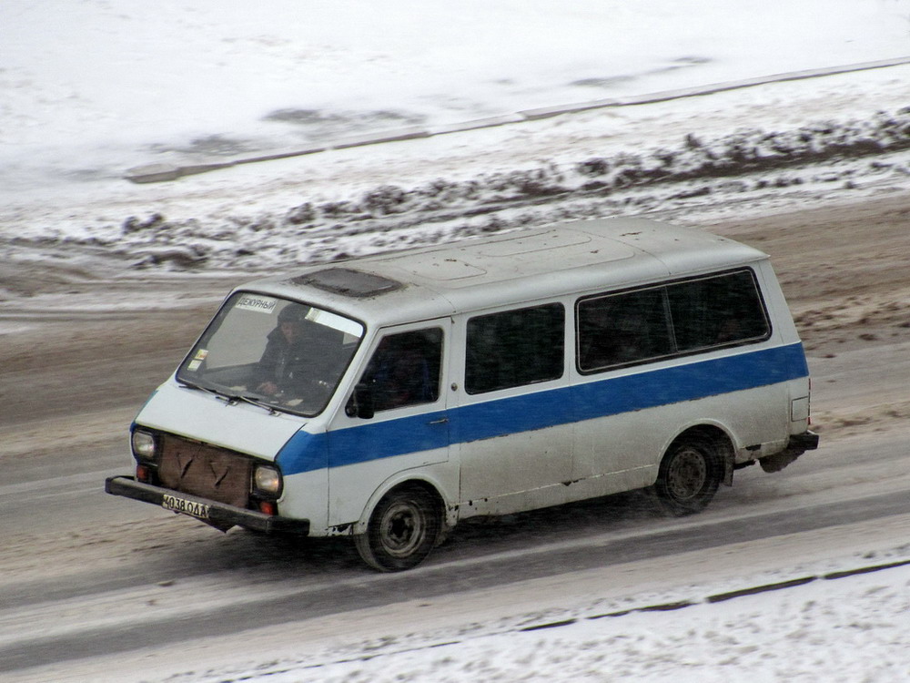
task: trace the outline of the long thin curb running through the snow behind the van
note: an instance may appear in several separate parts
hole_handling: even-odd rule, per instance
[[[230,161],[219,161],[207,164],[193,164],[187,166],[175,166],[173,164],[148,164],[146,166],[137,166],[135,168],[128,169],[124,175],[124,178],[134,183],[163,182],[167,180],[176,180],[177,178],[182,178],[183,176],[196,175],[197,173],[206,173],[207,171],[217,170],[219,168],[230,168],[233,166],[239,166],[241,164],[258,163],[259,161],[274,161],[281,158],[302,157],[309,154],[329,151],[330,149],[347,149],[365,147],[368,145],[377,145],[383,142],[395,142],[398,140],[432,138],[438,135],[460,133],[466,130],[477,130],[480,128],[505,126],[511,123],[536,121],[541,118],[558,117],[562,114],[577,114],[582,111],[590,111],[591,109],[601,109],[608,107],[632,107],[635,105],[652,104],[654,102],[666,102],[668,100],[681,99],[683,97],[701,97],[704,95],[713,95],[714,93],[724,92],[727,90],[738,90],[745,87],[763,86],[769,83],[781,83],[784,81],[803,80],[805,78],[818,78],[821,76],[834,76],[837,74],[847,74],[854,71],[866,71],[869,69],[885,68],[886,66],[901,66],[906,64],[910,64],[910,56],[895,57],[893,59],[882,59],[875,62],[863,62],[861,64],[853,64],[847,66],[830,66],[828,68],[821,69],[791,71],[784,74],[774,74],[773,76],[758,76],[755,78],[745,78],[743,80],[737,81],[715,83],[709,86],[688,87],[678,90],[664,90],[662,92],[652,93],[650,95],[595,99],[588,102],[576,103],[573,105],[559,105],[554,107],[525,109],[514,114],[506,114],[499,117],[478,118],[471,121],[446,124],[438,127],[400,128],[398,130],[389,130],[386,132],[364,135],[358,138],[348,138],[325,146],[300,148],[287,152],[278,152],[276,154],[266,154],[256,157],[236,158]]]

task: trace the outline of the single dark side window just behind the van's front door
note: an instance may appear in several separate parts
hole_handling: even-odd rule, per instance
[[[565,309],[559,303],[471,318],[465,391],[493,392],[559,379],[564,339]]]

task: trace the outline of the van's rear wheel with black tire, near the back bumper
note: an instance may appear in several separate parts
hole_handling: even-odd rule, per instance
[[[693,515],[711,503],[722,479],[717,448],[703,439],[683,438],[663,454],[654,490],[672,515]]]

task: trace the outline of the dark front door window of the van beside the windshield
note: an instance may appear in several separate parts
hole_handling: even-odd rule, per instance
[[[384,337],[360,382],[373,391],[375,410],[386,411],[440,397],[442,331],[439,328]]]

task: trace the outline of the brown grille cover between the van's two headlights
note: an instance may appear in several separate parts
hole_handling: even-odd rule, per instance
[[[162,439],[158,478],[162,486],[238,507],[247,507],[250,458],[230,451],[185,441],[177,436]]]

